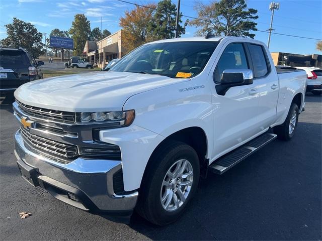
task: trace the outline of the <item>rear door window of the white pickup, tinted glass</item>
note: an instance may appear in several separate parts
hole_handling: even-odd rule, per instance
[[[263,47],[256,44],[249,45],[250,53],[254,65],[254,77],[263,77],[268,73],[266,58]]]

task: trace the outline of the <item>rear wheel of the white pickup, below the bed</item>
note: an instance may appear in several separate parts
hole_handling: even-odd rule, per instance
[[[292,120],[292,123],[291,123]],[[298,106],[295,103],[291,104],[285,122],[274,127],[274,133],[277,138],[284,141],[289,141],[294,136],[298,121]],[[293,126],[293,127],[292,127]]]

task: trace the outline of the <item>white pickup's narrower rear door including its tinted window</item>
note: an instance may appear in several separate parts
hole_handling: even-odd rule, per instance
[[[247,46],[252,59],[254,81],[259,84],[258,122],[261,131],[276,121],[279,81],[275,69],[271,69],[265,47],[253,43]]]

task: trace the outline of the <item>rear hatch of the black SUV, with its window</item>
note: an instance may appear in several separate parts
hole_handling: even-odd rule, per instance
[[[23,50],[0,50],[0,89],[17,89],[30,81],[30,61]]]

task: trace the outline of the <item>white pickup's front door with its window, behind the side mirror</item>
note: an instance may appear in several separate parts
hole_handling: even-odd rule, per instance
[[[246,55],[246,45],[230,43],[224,49],[214,72],[219,84],[225,69],[251,69]],[[225,95],[218,95],[214,88],[214,151],[213,159],[232,150],[257,134],[259,84],[231,87]]]

